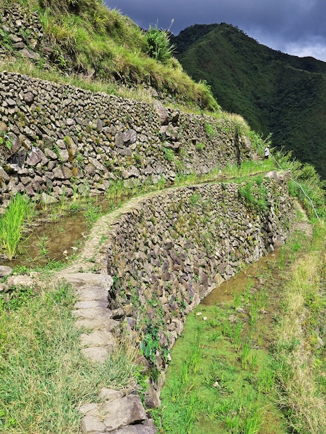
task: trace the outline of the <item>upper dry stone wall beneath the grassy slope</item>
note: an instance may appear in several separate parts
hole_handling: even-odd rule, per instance
[[[248,158],[230,121],[0,73],[0,196],[58,200]]]

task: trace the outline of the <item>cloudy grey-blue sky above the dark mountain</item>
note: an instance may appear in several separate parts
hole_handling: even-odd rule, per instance
[[[326,62],[326,0],[104,0],[139,26],[178,35],[193,24],[238,26],[261,44]]]

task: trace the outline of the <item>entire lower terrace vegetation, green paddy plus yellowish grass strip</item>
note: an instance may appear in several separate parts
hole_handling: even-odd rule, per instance
[[[291,273],[280,275],[270,259],[255,281],[250,271],[241,277],[233,300],[225,282],[223,302],[188,315],[153,412],[160,433],[325,432],[325,351],[316,336],[316,327],[325,336],[325,234],[316,223],[309,252],[293,235],[280,256]]]

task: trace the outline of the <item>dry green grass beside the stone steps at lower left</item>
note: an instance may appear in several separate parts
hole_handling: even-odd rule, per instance
[[[0,432],[75,434],[80,403],[103,386],[135,386],[135,347],[125,342],[103,365],[91,363],[80,353],[72,288],[22,294],[0,300]]]

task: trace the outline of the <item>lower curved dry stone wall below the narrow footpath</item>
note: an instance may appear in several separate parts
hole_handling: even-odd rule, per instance
[[[202,184],[147,198],[112,227],[112,317],[143,336],[160,372],[200,299],[285,241],[293,218],[286,175],[271,173],[262,186],[265,210],[253,209],[238,184]]]

